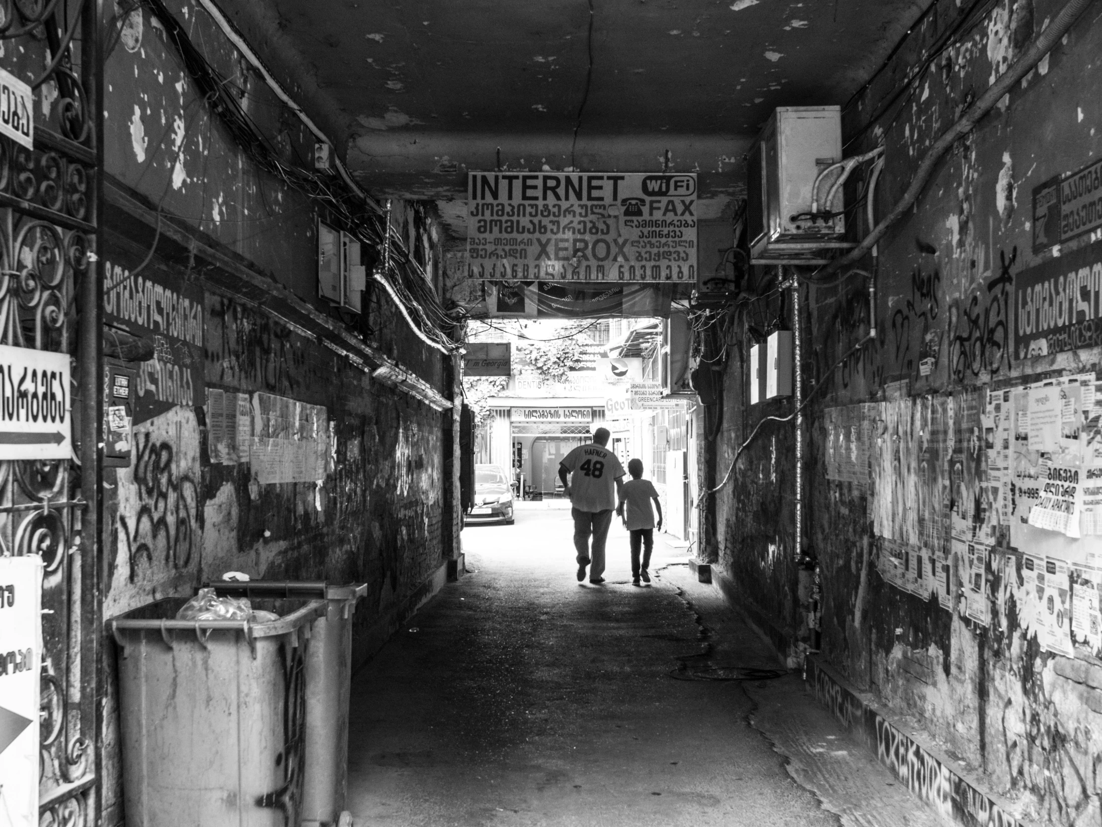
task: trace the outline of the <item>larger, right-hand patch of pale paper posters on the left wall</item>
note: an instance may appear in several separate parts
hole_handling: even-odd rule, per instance
[[[328,423],[324,407],[253,394],[251,422],[249,465],[258,483],[325,479]]]

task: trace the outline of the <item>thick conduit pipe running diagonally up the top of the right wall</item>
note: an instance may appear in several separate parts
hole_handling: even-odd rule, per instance
[[[1049,24],[1048,29],[1037,35],[1029,47],[1022,54],[1018,60],[1016,60],[1008,69],[1006,69],[1003,75],[993,83],[983,95],[961,116],[961,119],[953,123],[946,132],[933,142],[933,146],[927,150],[926,155],[922,158],[921,163],[918,165],[918,170],[915,173],[914,179],[911,179],[910,186],[899,198],[899,202],[892,208],[884,219],[874,227],[864,240],[858,244],[854,249],[850,250],[846,255],[841,258],[836,258],[829,265],[825,265],[821,270],[815,273],[817,278],[825,278],[838,272],[843,267],[849,265],[854,265],[862,259],[876,243],[884,237],[893,224],[895,224],[899,218],[906,213],[910,207],[918,201],[918,196],[921,194],[926,184],[929,182],[930,176],[933,174],[933,169],[938,161],[941,160],[941,155],[952,147],[959,138],[968,135],[972,131],[975,125],[980,121],[984,115],[986,115],[991,109],[997,104],[1004,95],[1009,93],[1011,87],[1014,86],[1018,80],[1026,76],[1034,66],[1036,66],[1041,57],[1044,57],[1048,52],[1059,42],[1059,40],[1068,33],[1072,24],[1079,19],[1079,17],[1087,10],[1094,0],[1070,0],[1067,6],[1065,6],[1060,13],[1056,15],[1056,19]]]

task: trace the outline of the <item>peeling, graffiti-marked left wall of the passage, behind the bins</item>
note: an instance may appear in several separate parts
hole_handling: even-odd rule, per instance
[[[228,259],[270,276],[450,397],[444,358],[414,336],[389,297],[369,291],[360,319],[318,299],[312,205],[238,150],[196,97],[147,9],[120,14],[118,7],[106,6],[106,30],[117,35],[109,39],[105,78],[107,173],[134,197],[186,222]],[[186,0],[170,8],[208,60],[240,86],[242,105],[287,159],[312,158],[313,136],[278,105],[209,15]],[[148,215],[134,217],[155,223]],[[120,250],[115,257],[127,267],[145,256],[152,238],[136,236],[133,226],[108,228]],[[421,205],[396,203],[395,227],[417,250],[439,294],[442,237],[434,215]],[[181,351],[169,336],[148,337],[158,358],[195,372],[195,394],[193,404],[159,397],[154,405],[142,393],[153,393],[150,383],[138,383],[142,396],[129,464],[105,470],[104,616],[190,595],[204,580],[230,570],[253,579],[366,581],[367,595],[355,615],[354,646],[361,660],[439,580],[455,546],[456,512],[445,502],[454,488],[445,484],[454,468],[445,457],[453,450],[454,440],[445,434],[453,415],[374,382],[269,302],[242,299],[217,266],[184,266],[163,259],[164,253],[164,246],[153,251],[142,278],[158,284],[174,279],[190,297],[201,297],[202,346]],[[143,296],[126,293],[120,301],[145,302]],[[140,326],[139,335],[154,327]],[[210,391],[250,399],[268,394],[324,407],[332,425],[324,479],[261,484],[248,461],[222,461],[212,444]],[[105,824],[114,825],[123,814],[114,654],[107,649]]]

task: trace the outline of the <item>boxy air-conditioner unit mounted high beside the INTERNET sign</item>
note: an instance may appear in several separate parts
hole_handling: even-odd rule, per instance
[[[773,116],[747,155],[747,222],[750,256],[760,264],[799,260],[839,239],[841,215],[812,216],[812,187],[819,173],[842,160],[842,110],[838,106],[784,106]],[[841,212],[842,187],[822,203],[841,168],[819,185],[818,213]],[[766,259],[766,260],[760,260]]]

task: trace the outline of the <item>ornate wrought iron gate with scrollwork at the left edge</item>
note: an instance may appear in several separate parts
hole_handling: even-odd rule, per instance
[[[45,563],[40,824],[51,827],[96,824],[99,809],[96,15],[93,0],[0,0],[0,67],[34,95],[31,112],[0,105],[24,136],[33,119],[33,149],[0,137],[0,343],[73,357],[74,443],[85,437],[72,460],[0,462],[0,555]]]

